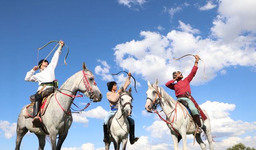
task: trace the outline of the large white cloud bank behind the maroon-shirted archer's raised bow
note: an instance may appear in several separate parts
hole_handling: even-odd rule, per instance
[[[194,58],[187,56],[178,61],[172,58],[198,54],[199,51],[199,56],[205,63],[208,80],[202,79],[204,66],[200,61],[196,74],[199,78],[194,78],[191,83],[194,85],[209,82],[220,70],[229,66],[256,65],[256,37],[239,36],[235,42],[225,43],[220,39],[202,39],[201,36],[177,30],[170,31],[166,36],[150,31],[142,31],[140,35],[142,40],[131,40],[116,45],[114,55],[121,68],[128,70],[134,64],[133,74],[146,81],[154,82],[158,78],[160,84],[165,84],[172,79],[172,72],[176,70],[184,72],[184,76],[187,76],[194,64]]]

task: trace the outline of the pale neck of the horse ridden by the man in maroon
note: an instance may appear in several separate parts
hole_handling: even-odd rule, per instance
[[[175,109],[176,106],[176,101],[169,95],[167,94],[163,89],[162,89],[162,99],[160,102],[160,106],[166,116],[170,116],[173,113],[172,112]]]

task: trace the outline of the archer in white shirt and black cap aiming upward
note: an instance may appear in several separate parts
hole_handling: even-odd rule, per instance
[[[38,66],[34,66],[29,72],[27,72],[25,80],[30,82],[38,82],[38,90],[35,94],[35,103],[33,110],[33,124],[38,127],[40,126],[41,118],[37,116],[40,111],[40,106],[43,100],[42,91],[46,90],[46,88],[53,87],[54,81],[54,70],[58,64],[58,59],[61,54],[62,47],[64,45],[63,41],[59,42],[59,47],[54,53],[52,60],[49,62],[46,59],[42,59],[38,62]],[[36,70],[40,69],[39,73],[34,74]]]

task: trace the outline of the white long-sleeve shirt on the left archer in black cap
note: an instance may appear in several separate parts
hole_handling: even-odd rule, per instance
[[[43,87],[40,86],[42,83],[52,82],[54,80],[54,70],[58,64],[61,49],[62,46],[59,46],[58,50],[56,50],[56,52],[54,53],[50,64],[48,64],[47,68],[45,67],[44,70],[40,70],[40,72],[37,74],[34,74],[35,71],[33,69],[27,72],[25,80],[30,82],[38,82],[39,87],[37,91],[41,90],[41,88]],[[44,90],[49,87],[51,86],[46,86]]]

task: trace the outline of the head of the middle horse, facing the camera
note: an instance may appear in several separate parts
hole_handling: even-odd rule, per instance
[[[121,88],[122,94],[119,98],[119,105],[122,111],[122,114],[126,117],[131,116],[132,114],[132,88],[129,88],[128,91],[125,91],[124,88]]]

